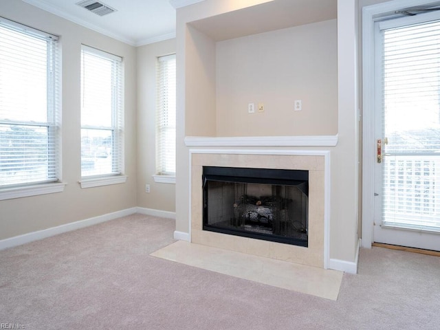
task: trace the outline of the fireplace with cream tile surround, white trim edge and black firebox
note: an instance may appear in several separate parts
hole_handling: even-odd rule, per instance
[[[326,192],[325,187],[329,182],[329,177],[327,176],[329,170],[326,170],[327,168],[329,168],[328,166],[328,151],[274,151],[243,148],[231,148],[228,150],[225,150],[224,148],[194,148],[190,150],[191,184],[189,187],[190,217],[188,219],[190,225],[190,241],[192,243],[208,245],[212,248],[231,250],[244,254],[253,254],[270,259],[288,261],[290,263],[300,263],[315,267],[326,267],[325,260],[328,256],[327,243],[329,241],[327,238],[329,231],[326,230],[326,228],[328,228],[328,225],[326,225],[326,221],[328,219],[327,214],[329,214],[329,210],[327,210],[326,205],[329,204],[328,201],[326,201],[328,192]],[[222,190],[223,188],[225,190],[230,189],[230,185],[237,186],[238,188],[243,188],[243,186],[239,184],[247,185],[248,190],[245,194],[239,192],[237,193],[237,198],[235,197],[235,195],[232,195],[232,197],[223,198],[223,203],[225,204],[225,206],[226,204],[228,204],[228,208],[230,208],[232,204],[232,210],[234,210],[234,203],[240,201],[239,197],[241,195],[259,197],[261,199],[262,196],[272,197],[272,186],[274,186],[274,190],[278,189],[276,188],[277,186],[287,186],[287,190],[289,190],[290,186],[295,186],[296,188],[294,188],[294,191],[296,190],[296,196],[289,197],[289,195],[287,195],[286,197],[286,195],[280,195],[281,198],[292,199],[289,208],[295,206],[295,203],[306,203],[307,201],[307,207],[304,208],[304,210],[306,210],[306,217],[303,214],[303,216],[299,218],[299,215],[297,214],[296,218],[294,218],[292,221],[295,225],[298,224],[297,228],[301,235],[307,234],[307,246],[304,246],[306,245],[304,243],[305,236],[299,236],[299,239],[303,239],[303,242],[301,242],[302,245],[296,245],[298,241],[292,244],[274,240],[267,240],[267,236],[274,237],[277,235],[276,228],[274,229],[274,233],[272,234],[267,232],[260,233],[267,234],[265,239],[262,239],[263,236],[261,235],[252,237],[250,237],[249,235],[238,236],[236,232],[234,232],[236,228],[233,228],[232,230],[234,234],[231,234],[231,232],[219,232],[217,228],[214,230],[206,230],[206,225],[203,225],[203,213],[206,210],[203,204],[203,195],[205,193],[203,191],[203,186],[206,186],[206,184],[208,184],[208,180],[206,180],[206,182],[203,182],[203,180],[204,175],[214,175],[214,173],[209,173],[209,171],[208,173],[206,173],[206,168],[208,167],[223,168],[222,170],[234,168],[234,170],[232,170],[233,176],[248,177],[248,182],[232,181],[232,184],[222,184],[221,181],[218,180],[218,177],[211,177],[216,179],[210,180],[213,181],[213,185],[224,186],[221,188]],[[250,168],[256,170],[256,172],[254,172],[253,178],[249,174],[243,175],[243,173],[239,172],[241,170],[248,170]],[[261,177],[263,177],[263,175],[259,174],[259,170],[262,169],[276,170],[273,171],[273,173],[289,173],[287,179],[292,179],[293,181],[283,181],[285,178],[280,179],[279,177],[266,178],[271,180],[281,180],[272,181],[272,183],[269,183],[270,188],[269,192],[267,192],[267,187],[262,188],[259,184],[253,181],[255,179],[260,179]],[[205,173],[203,173],[203,170],[205,171]],[[257,174],[255,175],[255,173]],[[292,175],[299,176],[294,177]],[[225,179],[224,175],[219,176],[222,176],[223,179]],[[228,176],[230,175],[226,175],[226,177]],[[223,181],[231,181],[231,179],[228,178],[227,180]],[[305,184],[305,182],[303,181],[307,181],[307,184]],[[267,181],[260,182],[260,184],[261,183],[268,184]],[[230,192],[228,192],[228,195],[229,194]],[[302,201],[301,199],[299,199],[299,195],[302,196]],[[212,196],[214,195],[211,195],[210,197],[208,196],[208,203],[212,202],[212,199],[214,198]],[[261,202],[263,203],[263,201]],[[256,203],[258,203],[258,200],[256,201]],[[239,206],[239,203],[236,204],[237,206]],[[229,212],[231,214],[231,211]],[[258,218],[258,215],[256,214],[249,214],[249,216],[254,216]],[[263,216],[264,214],[260,214],[262,229],[265,228],[265,225],[263,223],[265,219],[262,219]],[[228,218],[231,217],[233,218],[234,216],[230,215]],[[238,219],[241,219],[241,221],[243,221],[243,217],[238,217]],[[303,221],[303,224],[299,225],[301,221]],[[305,223],[307,223],[307,225]],[[251,222],[249,224],[255,225],[258,223],[254,221],[254,223]],[[216,226],[216,223],[208,223],[208,226],[209,225],[211,225],[212,228]],[[231,230],[231,228],[229,228],[229,230]]]

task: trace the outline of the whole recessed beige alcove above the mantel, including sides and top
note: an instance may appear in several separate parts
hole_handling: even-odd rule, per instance
[[[334,0],[274,0],[187,23],[186,137],[336,135],[336,15]]]

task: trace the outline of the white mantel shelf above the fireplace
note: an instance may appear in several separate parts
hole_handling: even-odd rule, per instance
[[[186,146],[336,146],[338,135],[185,137]]]

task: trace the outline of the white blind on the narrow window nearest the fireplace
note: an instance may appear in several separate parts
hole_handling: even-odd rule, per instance
[[[176,57],[157,58],[156,172],[176,171]]]

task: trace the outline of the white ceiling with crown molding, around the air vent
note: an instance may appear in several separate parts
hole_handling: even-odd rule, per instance
[[[175,37],[176,12],[169,0],[97,0],[115,9],[99,16],[80,7],[81,0],[23,0],[133,46]]]

